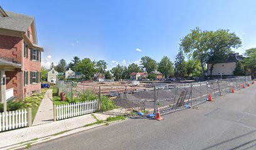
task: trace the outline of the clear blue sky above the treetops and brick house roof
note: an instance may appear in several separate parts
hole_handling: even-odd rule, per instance
[[[5,10],[36,18],[38,42],[49,66],[78,56],[117,63],[138,63],[143,56],[175,60],[179,39],[196,26],[230,29],[245,49],[256,47],[256,1],[1,1]]]

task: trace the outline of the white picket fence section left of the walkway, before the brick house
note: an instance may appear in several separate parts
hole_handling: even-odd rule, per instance
[[[28,111],[26,109],[0,113],[0,131],[23,128],[28,125]]]

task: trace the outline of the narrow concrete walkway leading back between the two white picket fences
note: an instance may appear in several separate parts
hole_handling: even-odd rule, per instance
[[[48,89],[36,113],[32,126],[53,122],[53,90]]]

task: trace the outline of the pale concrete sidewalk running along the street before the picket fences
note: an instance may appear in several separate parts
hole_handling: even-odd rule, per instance
[[[98,119],[105,120],[109,115],[95,114]],[[64,119],[51,123],[31,126],[29,128],[15,129],[0,133],[0,149],[6,149],[8,146],[21,146],[21,143],[31,139],[45,138],[53,134],[58,134],[72,129],[77,129],[86,124],[95,123],[97,120],[91,114],[78,116],[75,118]]]

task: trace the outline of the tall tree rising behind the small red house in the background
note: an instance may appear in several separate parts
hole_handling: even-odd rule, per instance
[[[144,56],[141,58],[141,65],[147,71],[147,73],[151,73],[157,69],[157,63],[154,59],[149,58],[148,56]]]

